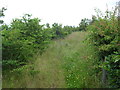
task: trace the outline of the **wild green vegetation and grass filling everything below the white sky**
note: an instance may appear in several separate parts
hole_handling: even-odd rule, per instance
[[[3,88],[120,88],[116,11],[97,11],[78,27],[40,25],[29,14],[10,25],[0,20]]]

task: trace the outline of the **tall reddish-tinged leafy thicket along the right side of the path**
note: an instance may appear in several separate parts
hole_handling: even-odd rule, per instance
[[[117,8],[107,10],[105,15],[97,10],[97,16],[87,27],[89,39],[98,51],[99,65],[106,70],[107,83],[111,88],[120,88],[120,21],[116,14]]]

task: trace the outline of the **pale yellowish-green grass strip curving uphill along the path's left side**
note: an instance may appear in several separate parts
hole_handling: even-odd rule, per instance
[[[37,70],[40,70],[41,87],[66,87],[65,71],[61,67],[65,57],[70,57],[81,47],[86,33],[74,32],[65,39],[54,40],[50,47],[36,62]],[[83,51],[82,51],[83,52]],[[68,63],[69,64],[69,63]]]

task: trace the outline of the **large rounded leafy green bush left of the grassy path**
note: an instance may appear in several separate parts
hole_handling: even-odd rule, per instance
[[[35,53],[42,53],[47,47],[50,38],[39,21],[26,14],[22,19],[13,20],[10,26],[2,26],[3,70],[15,68],[16,62],[17,67],[29,62]],[[7,66],[10,67],[4,68]]]

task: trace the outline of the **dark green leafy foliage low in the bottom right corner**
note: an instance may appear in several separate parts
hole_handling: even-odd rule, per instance
[[[109,84],[112,88],[119,88],[120,84],[120,54],[117,53],[106,57],[106,62],[104,63],[104,68],[109,74]]]

